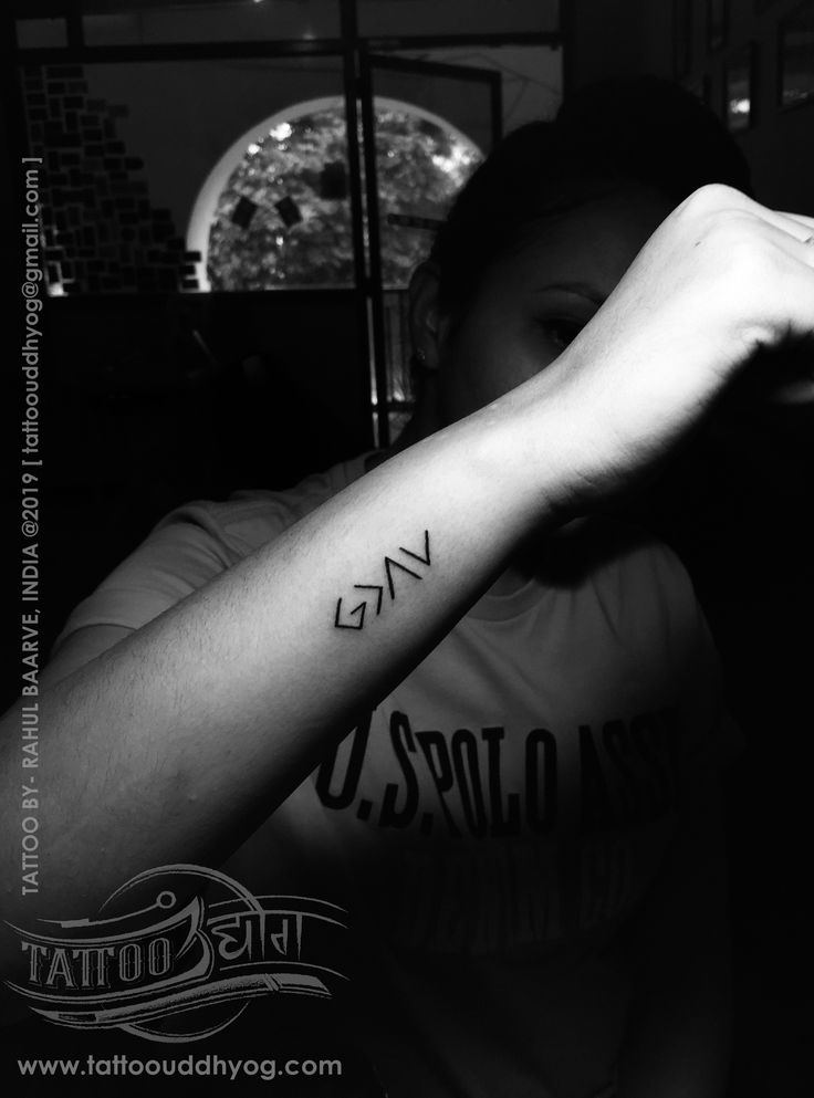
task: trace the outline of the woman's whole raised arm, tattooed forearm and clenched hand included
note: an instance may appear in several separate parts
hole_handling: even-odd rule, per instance
[[[664,453],[755,342],[814,328],[811,233],[727,188],[697,192],[552,366],[46,687],[38,918],[236,848],[523,537]],[[0,739],[12,921],[30,918],[19,738],[14,707]]]

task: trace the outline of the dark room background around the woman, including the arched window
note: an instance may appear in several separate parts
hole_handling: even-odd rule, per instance
[[[20,157],[43,161],[45,648],[173,506],[397,435],[410,265],[479,157],[570,91],[678,80],[737,135],[758,198],[814,216],[814,0],[14,0],[4,33],[7,209]],[[744,733],[731,1098],[814,1092],[812,420],[716,425],[645,505],[697,583]],[[15,475],[8,492],[13,557]]]

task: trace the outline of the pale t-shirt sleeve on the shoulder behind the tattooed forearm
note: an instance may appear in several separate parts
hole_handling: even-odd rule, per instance
[[[208,504],[179,508],[73,609],[54,649],[87,626],[140,629],[239,558]]]

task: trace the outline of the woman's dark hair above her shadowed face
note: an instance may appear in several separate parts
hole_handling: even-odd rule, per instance
[[[751,194],[745,157],[695,95],[655,76],[593,84],[503,138],[460,191],[430,253],[441,307],[466,305],[533,222],[632,182],[676,206],[710,182]]]

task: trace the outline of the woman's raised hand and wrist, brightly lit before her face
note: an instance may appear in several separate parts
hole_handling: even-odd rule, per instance
[[[686,433],[755,351],[813,332],[814,218],[703,187],[529,383],[551,411],[541,459],[565,460],[563,483],[589,508]]]

